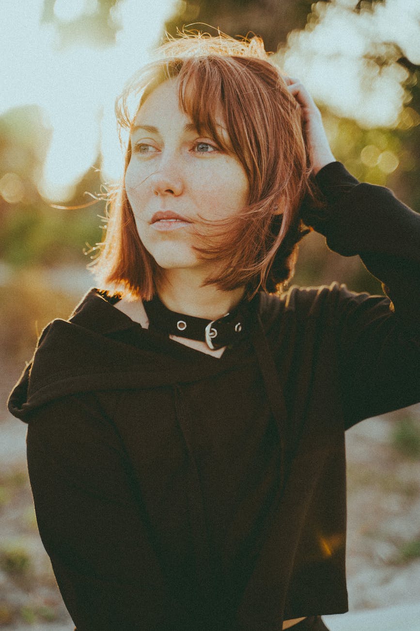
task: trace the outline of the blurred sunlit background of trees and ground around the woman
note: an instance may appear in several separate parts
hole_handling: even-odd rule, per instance
[[[165,32],[184,26],[263,37],[315,98],[336,159],[420,210],[419,0],[1,0],[2,403],[43,326],[93,284],[86,265],[105,213],[97,198],[122,165],[115,97]],[[358,257],[311,233],[293,282],[333,280],[382,293]],[[0,626],[71,628],[37,535],[25,427],[4,407]],[[349,432],[351,608],[418,599],[419,419],[412,406]]]

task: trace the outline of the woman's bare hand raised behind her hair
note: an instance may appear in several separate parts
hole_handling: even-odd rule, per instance
[[[315,105],[314,99],[298,79],[283,76],[290,94],[295,97],[302,108],[304,134],[309,151],[312,173],[317,174],[322,167],[330,162],[335,162],[327,136],[322,124],[321,112]]]

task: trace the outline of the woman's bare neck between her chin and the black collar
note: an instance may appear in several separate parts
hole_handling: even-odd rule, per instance
[[[202,274],[171,269],[159,285],[159,298],[171,311],[215,320],[236,307],[244,295],[243,286],[224,291],[214,285],[202,286],[202,282]]]

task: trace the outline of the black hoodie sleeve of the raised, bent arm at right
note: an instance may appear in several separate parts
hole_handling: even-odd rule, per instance
[[[315,176],[324,207],[302,219],[343,256],[358,254],[384,295],[341,287],[339,382],[348,427],[420,401],[420,215],[385,187],[360,184],[340,162]]]

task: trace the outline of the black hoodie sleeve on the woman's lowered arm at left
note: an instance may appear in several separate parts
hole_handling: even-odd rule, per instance
[[[156,628],[164,587],[152,535],[95,397],[34,411],[26,442],[40,536],[77,631]]]

